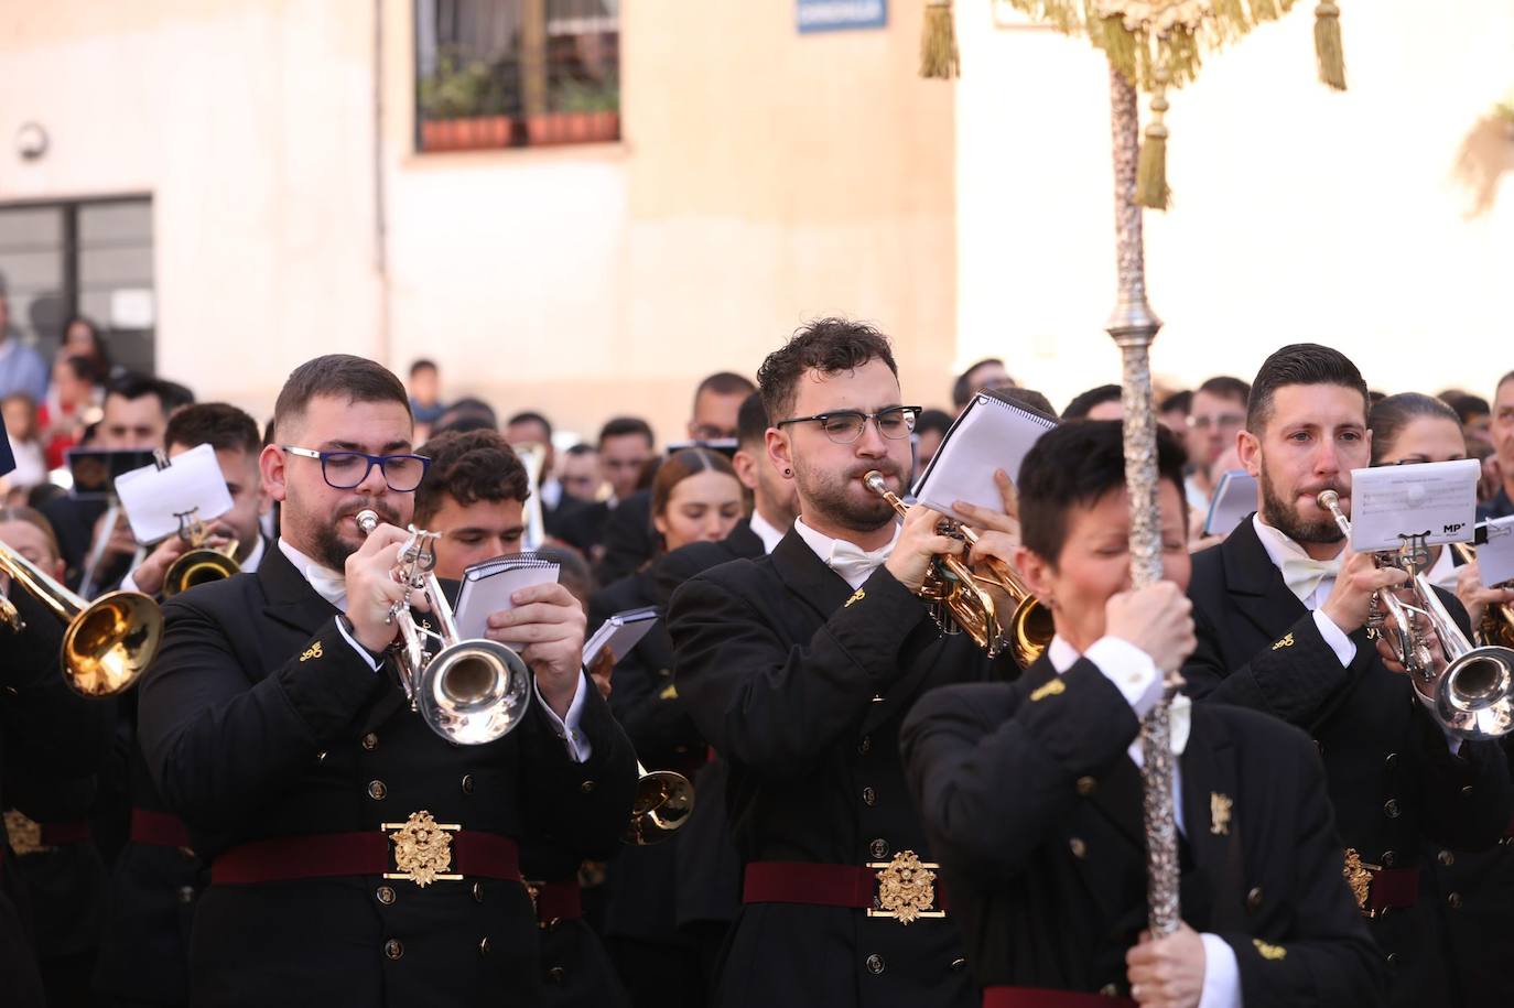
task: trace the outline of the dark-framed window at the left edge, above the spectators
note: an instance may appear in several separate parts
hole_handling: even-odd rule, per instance
[[[0,206],[0,294],[12,338],[51,360],[71,318],[98,327],[114,363],[151,374],[156,342],[148,198]]]

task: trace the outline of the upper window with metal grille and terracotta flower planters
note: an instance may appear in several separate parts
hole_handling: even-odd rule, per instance
[[[415,147],[621,136],[619,0],[415,0]]]

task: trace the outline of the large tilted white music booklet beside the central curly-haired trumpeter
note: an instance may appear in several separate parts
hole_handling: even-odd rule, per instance
[[[1055,421],[993,397],[974,397],[914,484],[916,499],[958,521],[964,519],[952,510],[957,501],[1002,510],[993,471],[1004,469],[1010,480],[1019,480],[1031,445],[1055,425]]]

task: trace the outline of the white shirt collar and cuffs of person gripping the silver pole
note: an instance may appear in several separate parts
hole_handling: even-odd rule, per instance
[[[1137,719],[1145,717],[1157,701],[1161,699],[1161,674],[1157,664],[1145,651],[1122,640],[1120,637],[1101,637],[1093,642],[1081,655],[1063,640],[1052,637],[1046,648],[1046,658],[1057,670],[1057,675],[1070,669],[1078,658],[1087,658],[1110,683],[1125,696]],[[1181,754],[1188,745],[1188,714],[1192,704],[1187,696],[1176,696],[1172,702],[1172,751]],[[1126,749],[1136,766],[1142,766],[1140,736]],[[1176,814],[1178,831],[1187,834],[1182,822],[1182,766],[1179,760],[1172,763],[1172,808]],[[1240,967],[1235,963],[1235,950],[1217,934],[1204,932],[1204,990],[1199,994],[1199,1008],[1241,1008]]]

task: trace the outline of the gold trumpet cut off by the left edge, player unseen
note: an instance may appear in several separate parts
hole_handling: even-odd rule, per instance
[[[64,680],[76,693],[124,693],[157,657],[164,613],[147,595],[111,592],[86,602],[5,543],[0,543],[0,572],[65,624],[61,660]],[[9,599],[0,610],[12,631],[26,628]]]

